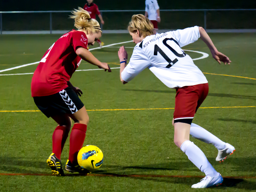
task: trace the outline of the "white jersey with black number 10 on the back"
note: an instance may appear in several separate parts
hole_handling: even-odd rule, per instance
[[[131,81],[145,68],[170,88],[208,83],[202,71],[181,47],[200,37],[197,26],[147,36],[133,50],[121,76]]]

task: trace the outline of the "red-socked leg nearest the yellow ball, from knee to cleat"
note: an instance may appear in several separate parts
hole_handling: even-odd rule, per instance
[[[72,131],[70,133],[69,156],[66,163],[66,170],[68,172],[88,174],[89,171],[82,169],[78,165],[77,154],[84,145],[87,124],[89,123],[89,116],[85,107],[79,109],[74,114],[68,114],[68,116],[70,116],[75,121],[75,124],[72,127]]]

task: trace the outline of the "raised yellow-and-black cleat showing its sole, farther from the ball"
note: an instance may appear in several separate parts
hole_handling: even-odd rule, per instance
[[[65,176],[62,166],[61,166],[61,161],[58,159],[54,153],[52,153],[49,158],[47,159],[46,163],[48,166],[52,169],[52,174],[55,176]]]

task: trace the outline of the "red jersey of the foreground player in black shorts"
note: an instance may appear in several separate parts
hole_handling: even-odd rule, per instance
[[[52,44],[32,77],[32,97],[52,95],[67,88],[67,81],[82,61],[76,54],[76,49],[87,49],[87,44],[85,33],[74,29]]]

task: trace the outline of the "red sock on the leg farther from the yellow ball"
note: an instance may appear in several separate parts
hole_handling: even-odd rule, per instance
[[[52,134],[52,153],[55,153],[58,159],[68,138],[68,132],[67,127],[57,126]]]

